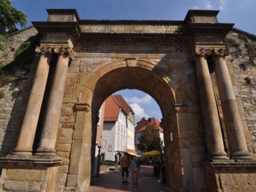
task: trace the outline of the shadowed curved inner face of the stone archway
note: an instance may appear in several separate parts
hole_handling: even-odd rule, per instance
[[[118,63],[115,63],[118,66]],[[113,65],[105,66],[103,73],[99,73],[99,79],[93,80],[95,86],[93,87],[92,96],[90,98],[91,104],[91,170],[94,169],[94,154],[96,143],[96,131],[98,123],[98,113],[102,103],[110,94],[123,89],[137,89],[141,90],[155,99],[160,107],[163,115],[164,140],[166,143],[166,172],[168,185],[176,182],[176,185],[182,186],[182,160],[180,157],[180,143],[179,130],[177,126],[177,115],[174,104],[177,94],[172,88],[171,82],[165,76],[163,69],[157,66],[137,61],[137,66],[127,66],[125,60],[119,62],[119,68],[113,69]],[[99,71],[101,71],[99,69]],[[105,72],[107,71],[107,73]],[[96,72],[97,73],[97,72]],[[171,135],[171,137],[170,137]],[[176,138],[176,139],[174,139]],[[172,179],[170,179],[172,177]],[[176,177],[176,179],[174,179]],[[177,177],[180,177],[179,184],[177,184]],[[93,178],[93,171],[91,171],[91,182]]]

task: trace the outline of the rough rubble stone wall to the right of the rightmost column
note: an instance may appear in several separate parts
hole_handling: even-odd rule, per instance
[[[247,147],[256,157],[256,37],[232,30],[226,37],[238,109],[243,122]],[[254,46],[253,46],[254,45]],[[254,50],[254,51],[252,51]],[[231,69],[233,69],[231,71]],[[249,77],[249,78],[248,78]],[[247,79],[251,79],[248,82]],[[242,114],[244,112],[244,115]]]

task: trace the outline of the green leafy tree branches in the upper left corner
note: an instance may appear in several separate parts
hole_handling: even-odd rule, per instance
[[[12,0],[0,0],[0,50],[4,49],[2,42],[5,41],[6,31],[16,24],[25,27],[27,16],[12,6]]]

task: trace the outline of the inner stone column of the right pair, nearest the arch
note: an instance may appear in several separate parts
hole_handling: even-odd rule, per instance
[[[210,160],[227,159],[227,153],[224,151],[212,81],[206,60],[207,55],[210,54],[210,49],[197,49],[195,58],[197,82],[205,129],[205,140],[208,151],[207,158]]]

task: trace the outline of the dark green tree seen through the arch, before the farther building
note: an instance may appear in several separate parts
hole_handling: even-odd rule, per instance
[[[140,143],[137,145],[138,149],[143,152],[161,150],[161,140],[157,129],[153,125],[146,126],[141,136],[138,139]]]

